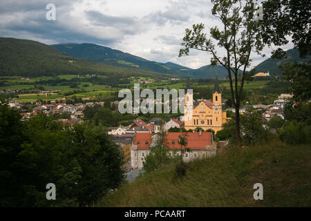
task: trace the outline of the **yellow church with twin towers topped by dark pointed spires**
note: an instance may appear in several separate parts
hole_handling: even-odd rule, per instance
[[[187,82],[187,90],[190,88],[189,76]],[[223,128],[223,124],[227,122],[227,113],[223,111],[221,104],[221,90],[216,82],[213,90],[213,102],[205,100],[202,102],[194,102],[193,93],[187,91],[185,95],[185,129],[194,130],[202,128],[203,130],[211,129],[215,132]]]

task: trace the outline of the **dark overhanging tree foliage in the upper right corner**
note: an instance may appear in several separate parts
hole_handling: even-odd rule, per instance
[[[263,20],[261,21],[263,42],[268,46],[288,44],[292,37],[294,47],[300,56],[311,52],[311,1],[304,0],[266,0],[263,1]],[[283,57],[285,52],[278,48],[273,56]]]

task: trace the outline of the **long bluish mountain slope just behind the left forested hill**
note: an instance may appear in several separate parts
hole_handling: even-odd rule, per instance
[[[120,50],[98,46],[96,44],[56,44],[52,46],[65,52],[67,55],[109,64],[111,66],[150,70],[158,73],[180,75],[182,77],[185,77],[187,71],[191,70],[183,66],[166,65],[155,61],[148,61],[142,57],[131,55]]]

